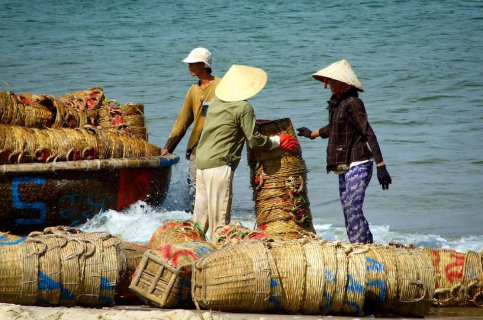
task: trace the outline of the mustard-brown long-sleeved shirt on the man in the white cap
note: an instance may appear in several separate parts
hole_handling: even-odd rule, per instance
[[[221,78],[215,77],[215,79],[204,89],[201,89],[198,83],[195,83],[190,87],[186,94],[183,107],[181,107],[181,110],[179,111],[173,129],[171,130],[166,145],[164,146],[164,149],[168,149],[169,153],[173,153],[174,149],[181,139],[183,139],[186,131],[193,122],[193,131],[191,132],[186,147],[187,158],[189,158],[189,155],[194,151],[198,144],[201,131],[203,130],[206,110],[208,109],[210,101],[215,97],[215,89],[220,80]]]

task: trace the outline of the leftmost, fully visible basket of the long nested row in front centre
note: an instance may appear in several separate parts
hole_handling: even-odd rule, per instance
[[[195,304],[226,311],[277,309],[279,292],[273,287],[277,277],[271,274],[271,259],[262,242],[242,242],[206,255],[193,269]]]

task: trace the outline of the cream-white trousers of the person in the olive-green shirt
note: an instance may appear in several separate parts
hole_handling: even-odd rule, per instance
[[[203,170],[196,169],[193,220],[205,233],[209,227],[213,235],[219,226],[230,223],[233,174],[233,170],[228,165]]]

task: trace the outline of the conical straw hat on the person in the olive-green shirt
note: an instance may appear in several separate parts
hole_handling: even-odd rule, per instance
[[[215,94],[226,102],[247,100],[263,89],[266,80],[266,72],[262,69],[233,65],[221,79]]]

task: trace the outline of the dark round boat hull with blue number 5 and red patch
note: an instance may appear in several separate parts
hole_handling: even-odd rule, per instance
[[[179,156],[0,165],[0,230],[73,226],[142,200],[161,205]]]

